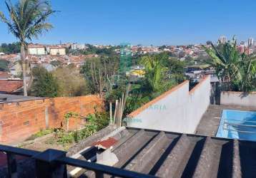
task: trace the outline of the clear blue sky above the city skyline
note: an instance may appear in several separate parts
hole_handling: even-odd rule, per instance
[[[12,0],[15,1],[15,0]],[[33,43],[185,45],[256,38],[255,0],[52,0],[54,28]],[[4,0],[0,11],[6,13]],[[0,43],[16,41],[0,23]]]

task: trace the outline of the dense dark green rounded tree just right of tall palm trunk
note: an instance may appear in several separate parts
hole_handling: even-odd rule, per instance
[[[31,86],[31,95],[53,98],[58,96],[59,85],[52,73],[43,67],[33,69],[34,82]]]

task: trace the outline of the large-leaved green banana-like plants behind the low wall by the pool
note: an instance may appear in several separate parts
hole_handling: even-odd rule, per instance
[[[255,88],[256,58],[240,54],[235,38],[225,44],[205,48],[211,58],[209,62],[216,70],[217,77],[227,84],[225,90],[248,92]]]

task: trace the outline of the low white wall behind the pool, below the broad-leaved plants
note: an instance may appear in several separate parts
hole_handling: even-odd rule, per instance
[[[256,93],[222,92],[220,96],[221,105],[240,105],[256,108]]]

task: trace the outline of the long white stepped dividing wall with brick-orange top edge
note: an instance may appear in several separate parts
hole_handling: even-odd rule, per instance
[[[210,77],[205,78],[191,92],[189,92],[189,82],[186,81],[151,103],[152,105],[144,110],[139,108],[132,112],[126,119],[127,126],[194,133],[202,115],[210,105]]]

